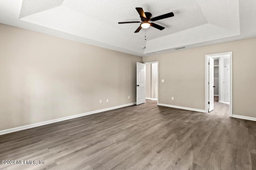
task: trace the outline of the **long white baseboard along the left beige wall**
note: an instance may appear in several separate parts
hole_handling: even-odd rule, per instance
[[[43,122],[34,123],[34,124],[30,124],[30,125],[25,125],[25,126],[20,126],[20,127],[14,127],[14,128],[11,128],[11,129],[5,129],[5,130],[0,131],[0,135],[4,135],[4,134],[6,134],[6,133],[12,133],[12,132],[16,132],[16,131],[21,131],[21,130],[25,130],[25,129],[30,129],[30,128],[32,128],[32,127],[38,127],[38,126],[42,126],[42,125],[48,125],[48,124],[50,124],[50,123],[56,123],[56,122],[59,122],[59,121],[74,119],[74,118],[82,117],[82,116],[86,116],[86,115],[92,115],[92,114],[100,113],[100,112],[103,112],[103,111],[118,109],[118,108],[121,108],[121,107],[132,106],[132,105],[135,105],[135,104],[136,104],[136,103],[124,104],[124,105],[120,105],[120,106],[109,107],[109,108],[106,108],[106,109],[100,109],[100,110],[96,110],[96,111],[90,111],[90,112],[87,112],[87,113],[81,113],[81,114],[78,114],[78,115],[72,115],[72,116],[68,116],[68,117],[62,117],[62,118],[53,119],[53,120],[48,120],[48,121],[43,121]]]

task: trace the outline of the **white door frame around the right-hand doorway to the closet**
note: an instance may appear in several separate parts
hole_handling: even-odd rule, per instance
[[[209,54],[205,55],[205,112],[208,113],[208,58],[209,57],[216,57],[221,55],[229,55],[230,57],[230,117],[233,117],[233,54],[232,51],[226,53],[216,53],[216,54]]]

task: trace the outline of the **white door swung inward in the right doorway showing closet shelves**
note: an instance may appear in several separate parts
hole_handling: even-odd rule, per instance
[[[214,107],[214,59],[209,57],[208,60],[208,111],[212,111]]]

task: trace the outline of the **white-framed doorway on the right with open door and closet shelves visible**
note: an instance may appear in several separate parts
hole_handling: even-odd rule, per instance
[[[229,104],[232,117],[232,52],[206,55],[205,60],[205,112],[218,100]]]

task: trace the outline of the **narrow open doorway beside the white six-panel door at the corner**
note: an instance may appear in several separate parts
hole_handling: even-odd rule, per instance
[[[158,61],[146,64],[146,99],[158,104]]]

